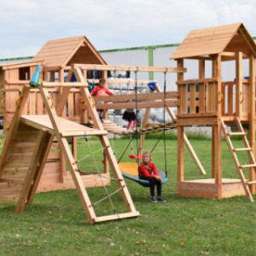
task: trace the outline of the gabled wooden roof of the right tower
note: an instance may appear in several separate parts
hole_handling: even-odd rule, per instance
[[[242,23],[193,30],[177,47],[171,58],[214,55],[224,51],[241,51],[256,56],[256,44]]]

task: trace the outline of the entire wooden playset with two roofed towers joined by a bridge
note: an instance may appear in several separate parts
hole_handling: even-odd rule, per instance
[[[125,134],[124,127],[110,123],[108,109],[145,108],[143,127],[136,132],[145,135],[177,127],[177,193],[180,196],[224,198],[247,195],[253,201],[255,189],[255,56],[256,46],[242,24],[218,26],[192,31],[172,55],[177,67],[137,67],[107,65],[85,37],[49,41],[31,62],[10,64],[0,69],[1,114],[5,125],[3,153],[0,160],[0,202],[18,201],[17,212],[32,203],[36,192],[76,188],[90,224],[116,218],[135,217],[136,211],[117,160],[108,142],[108,132]],[[197,61],[198,78],[184,79],[186,60]],[[249,76],[242,73],[243,61],[249,65]],[[235,61],[236,76],[222,81],[224,61]],[[32,73],[40,63],[43,83],[38,88],[28,86]],[[206,76],[210,63],[212,76]],[[92,73],[108,78],[109,71],[135,73],[177,73],[177,91],[154,91],[111,97],[90,96],[88,82],[95,83]],[[148,82],[148,81],[147,81]],[[108,83],[119,83],[117,80]],[[122,81],[125,83],[125,80]],[[24,85],[25,84],[25,85]],[[103,104],[96,104],[101,101]],[[177,107],[177,116],[172,112]],[[103,124],[96,108],[104,110]],[[171,123],[149,124],[150,108],[166,108]],[[212,178],[186,180],[184,145],[196,166],[205,174],[201,162],[185,135],[184,127],[212,126]],[[226,125],[236,125],[230,132]],[[249,125],[249,141],[242,125]],[[222,175],[222,133],[228,143],[240,179]],[[99,137],[104,152],[104,172],[79,172],[76,137]],[[244,148],[234,148],[230,137],[241,136]],[[67,137],[71,138],[70,150]],[[240,164],[237,154],[247,152],[247,165]],[[110,183],[109,166],[125,202],[127,212],[98,217],[94,212],[88,187]],[[67,172],[68,169],[68,172]],[[249,170],[245,176],[244,169]],[[84,175],[83,175],[84,174]],[[85,189],[84,189],[85,187]]]

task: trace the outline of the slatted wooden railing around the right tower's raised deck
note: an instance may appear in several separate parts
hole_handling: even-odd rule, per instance
[[[218,92],[217,79],[194,79],[178,81],[179,117],[217,115],[220,104],[221,115],[247,120],[249,114],[249,80],[241,85],[234,81],[223,82]]]

